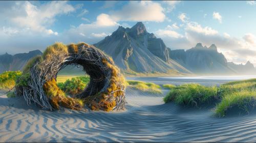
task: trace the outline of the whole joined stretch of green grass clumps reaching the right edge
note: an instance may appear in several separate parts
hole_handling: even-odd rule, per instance
[[[225,117],[235,107],[237,113],[249,113],[256,100],[256,79],[232,81],[219,87],[206,87],[200,84],[183,84],[170,88],[164,102],[175,102],[180,105],[203,105],[217,101],[215,114]]]

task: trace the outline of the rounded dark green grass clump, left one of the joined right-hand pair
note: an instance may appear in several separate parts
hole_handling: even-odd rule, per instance
[[[217,96],[217,87],[205,87],[200,84],[182,84],[172,90],[164,97],[164,102],[174,101],[180,105],[198,106],[208,104]]]

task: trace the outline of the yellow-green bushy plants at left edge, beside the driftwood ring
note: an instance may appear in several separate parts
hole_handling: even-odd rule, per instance
[[[16,79],[22,74],[20,71],[6,71],[0,74],[0,90],[8,91],[15,86]]]

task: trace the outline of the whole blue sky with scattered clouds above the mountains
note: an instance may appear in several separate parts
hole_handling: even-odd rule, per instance
[[[0,54],[94,44],[142,21],[171,49],[214,43],[228,61],[256,66],[255,15],[254,1],[1,1]]]

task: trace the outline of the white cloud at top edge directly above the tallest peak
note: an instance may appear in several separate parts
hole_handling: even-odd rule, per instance
[[[115,21],[156,21],[165,19],[164,9],[152,1],[130,1],[121,10],[112,11],[110,16]]]

